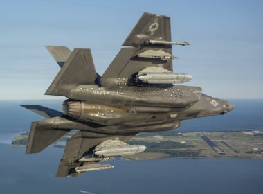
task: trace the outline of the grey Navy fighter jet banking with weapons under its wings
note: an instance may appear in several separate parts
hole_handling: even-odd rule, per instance
[[[105,73],[96,73],[89,48],[46,46],[59,73],[46,95],[66,96],[62,112],[22,105],[45,120],[31,124],[27,154],[37,153],[71,130],[57,177],[78,176],[113,168],[100,161],[143,152],[129,145],[139,132],[173,130],[181,121],[226,114],[233,105],[202,94],[201,87],[183,86],[192,76],[173,72],[170,17],[144,13]]]

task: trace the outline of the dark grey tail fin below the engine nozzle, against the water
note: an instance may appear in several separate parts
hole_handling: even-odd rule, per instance
[[[54,129],[46,120],[31,123],[26,154],[41,152],[69,131],[71,130]]]

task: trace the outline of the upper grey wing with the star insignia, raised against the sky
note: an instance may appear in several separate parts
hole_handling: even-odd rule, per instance
[[[170,41],[170,17],[144,13],[123,42],[125,47],[102,75],[102,86],[111,87],[114,78],[130,78],[147,67],[163,67],[172,71],[174,56],[171,44],[167,44]]]

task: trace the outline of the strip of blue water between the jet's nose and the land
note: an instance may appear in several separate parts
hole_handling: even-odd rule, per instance
[[[229,100],[235,109],[225,115],[183,121],[183,131],[263,130],[263,100]]]

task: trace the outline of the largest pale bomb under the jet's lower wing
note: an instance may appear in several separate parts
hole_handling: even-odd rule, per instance
[[[114,145],[96,148],[94,154],[99,157],[114,157],[120,155],[135,155],[146,149],[144,145]]]

